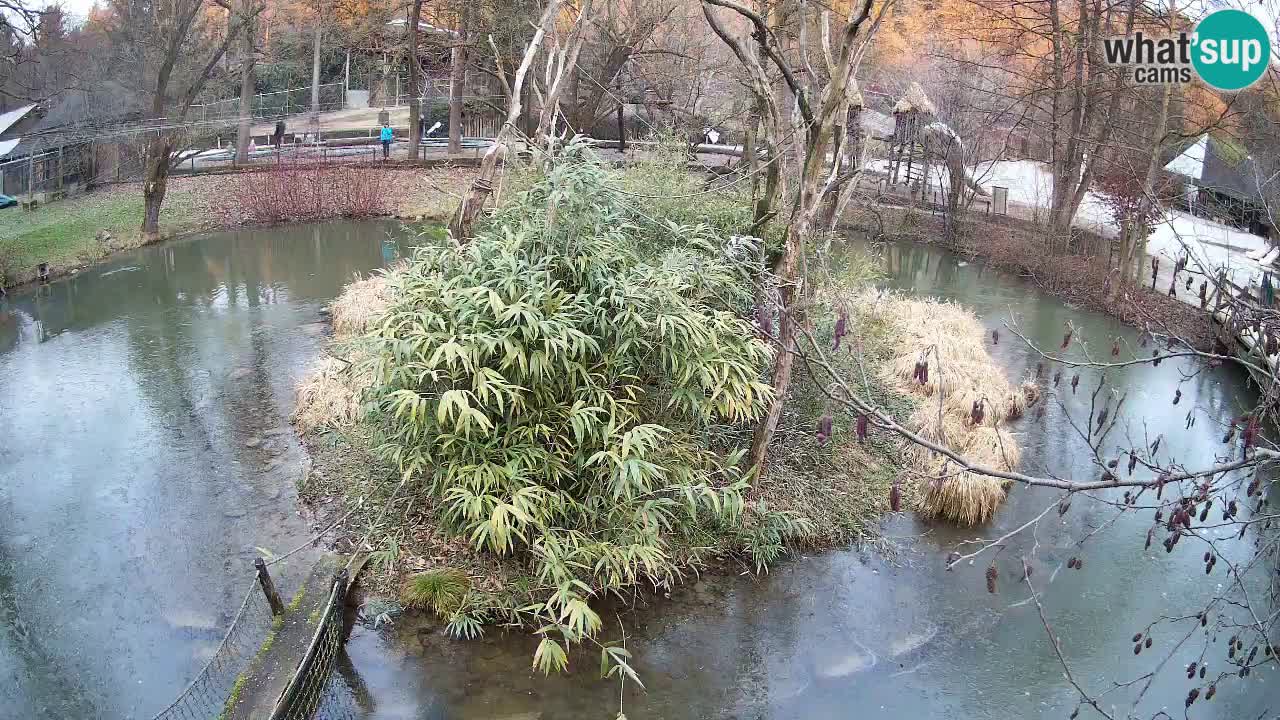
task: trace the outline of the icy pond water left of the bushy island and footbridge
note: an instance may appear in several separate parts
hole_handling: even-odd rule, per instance
[[[308,534],[292,388],[396,228],[219,233],[0,301],[0,716],[150,717],[255,547]]]

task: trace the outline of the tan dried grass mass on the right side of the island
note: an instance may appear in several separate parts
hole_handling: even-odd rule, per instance
[[[987,352],[987,331],[968,310],[951,304],[897,296],[868,299],[864,306],[893,323],[895,347],[882,374],[902,392],[925,398],[909,419],[916,432],[959,452],[966,461],[1012,470],[1021,457],[1002,424],[1021,416],[1039,397],[1032,382],[1012,386]],[[928,380],[916,364],[929,364]],[[980,421],[973,409],[980,404]],[[1005,500],[1007,483],[959,471],[954,462],[911,445],[905,456],[920,475],[919,511],[965,525],[986,523]]]

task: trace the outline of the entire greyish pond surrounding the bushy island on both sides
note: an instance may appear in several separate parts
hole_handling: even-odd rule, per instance
[[[321,351],[323,305],[353,273],[404,251],[408,241],[388,238],[396,227],[216,233],[0,305],[0,715],[150,717],[216,646],[257,548],[279,552],[310,536],[293,489],[305,462],[288,432],[293,386]],[[960,301],[989,328],[1014,316],[1051,347],[1066,320],[1098,348],[1115,336],[1137,340],[1108,318],[936,249],[888,246],[883,255],[884,284]],[[1007,333],[992,351],[1011,378],[1036,364]],[[1165,452],[1196,462],[1222,451],[1217,420],[1240,414],[1253,391],[1243,373],[1221,368],[1184,382],[1171,407],[1190,368],[1166,361],[1108,373],[1107,383],[1128,389],[1133,416],[1146,420],[1130,428],[1135,437],[1162,433]],[[1056,400],[1042,401],[1043,416],[1019,421],[1024,469],[1092,473],[1066,418],[1087,411],[1094,383],[1096,373],[1082,373],[1073,395],[1064,382]],[[1188,410],[1199,421],[1184,429]],[[895,518],[884,525],[900,548],[892,559],[797,556],[764,577],[694,579],[669,600],[611,616],[612,628],[626,626],[646,685],[628,684],[622,707],[632,719],[1066,717],[1075,696],[1014,562],[1002,561],[998,594],[987,593],[983,564],[942,568],[957,541],[1002,534],[1052,500],[1015,489],[980,530]],[[1083,548],[1075,539],[1111,523],[1112,511],[1080,498],[1065,524],[1053,518],[1005,557],[1034,557],[1068,664],[1101,692],[1151,669],[1149,655],[1132,653],[1134,633],[1160,615],[1199,610],[1213,584],[1203,582],[1201,548],[1142,551],[1147,516],[1123,516]],[[1064,569],[1075,555],[1085,569]],[[300,557],[285,574],[307,565]],[[1153,651],[1172,637],[1157,630]],[[1207,650],[1215,671],[1224,644]],[[343,676],[357,689],[356,715],[369,719],[617,712],[618,687],[596,678],[598,655],[576,652],[568,674],[543,678],[530,667],[532,650],[525,634],[457,642],[435,621],[402,619],[380,630],[357,625]],[[1144,716],[1165,706],[1181,715],[1183,669],[1199,650],[1185,647],[1157,674]],[[1275,711],[1274,675],[1272,665],[1229,679],[1193,715]],[[1106,700],[1125,707],[1132,693]]]

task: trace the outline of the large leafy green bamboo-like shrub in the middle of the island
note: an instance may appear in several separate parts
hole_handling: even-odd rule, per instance
[[[741,450],[768,346],[741,313],[751,268],[707,224],[618,192],[571,145],[466,243],[430,242],[370,334],[383,455],[474,547],[526,560],[545,601],[535,664],[593,635],[588,600],[669,585],[690,538],[741,523]],[[552,648],[549,644],[557,644]]]

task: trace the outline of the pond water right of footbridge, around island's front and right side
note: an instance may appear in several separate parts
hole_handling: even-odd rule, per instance
[[[1137,334],[1110,318],[1082,313],[1033,287],[980,265],[961,266],[933,249],[883,249],[884,284],[960,301],[988,328],[1015,318],[1036,342],[1056,347],[1062,324],[1078,337],[1110,348],[1120,336]],[[1007,337],[1007,336],[1006,336]],[[1030,351],[1012,341],[992,348],[1011,378],[1034,368]],[[1183,400],[1170,397],[1185,363],[1135,366],[1107,375],[1110,387],[1129,392],[1130,416],[1142,418],[1128,433],[1134,442],[1165,434],[1179,460],[1203,462],[1221,452],[1219,418],[1239,415],[1252,400],[1243,373],[1219,369],[1183,383]],[[1070,374],[1069,374],[1070,375]],[[1097,375],[1082,372],[1080,395],[1044,402],[1041,418],[1014,429],[1025,448],[1024,469],[1092,478],[1082,441],[1065,415],[1088,411],[1084,388]],[[1185,413],[1198,423],[1184,430]],[[1124,434],[1117,445],[1130,445]],[[1130,635],[1161,615],[1203,607],[1206,584],[1201,548],[1174,555],[1142,552],[1147,516],[1124,516],[1091,539],[1075,539],[1112,520],[1107,506],[1076,498],[1066,521],[1047,521],[1034,536],[1005,551],[998,594],[988,594],[984,565],[952,573],[942,559],[956,542],[982,533],[996,537],[1034,516],[1053,501],[1042,491],[1015,489],[996,523],[982,530],[929,527],[904,516],[886,523],[904,553],[895,564],[856,551],[799,557],[763,578],[701,579],[623,614],[627,647],[648,691],[628,685],[623,710],[630,717],[1066,717],[1076,696],[1046,641],[1034,603],[1016,583],[1016,559],[1033,557],[1034,578],[1047,584],[1044,609],[1078,680],[1101,693],[1112,680],[1129,680],[1152,667],[1152,655],[1134,657]],[[1056,518],[1056,515],[1055,515]],[[1230,530],[1226,530],[1230,532]],[[1034,552],[1033,552],[1034,550]],[[1158,550],[1158,546],[1157,546]],[[1240,548],[1238,552],[1244,551]],[[1087,569],[1065,569],[1068,557],[1087,559]],[[1220,578],[1225,582],[1225,578]],[[1189,628],[1184,623],[1180,633]],[[1170,628],[1155,633],[1156,650],[1172,647]],[[617,633],[611,639],[616,639]],[[618,710],[618,687],[598,675],[598,653],[579,651],[571,671],[543,678],[530,669],[534,641],[490,632],[476,642],[454,642],[430,620],[404,619],[390,630],[357,628],[348,652],[372,697],[365,715],[379,719],[609,717]],[[1225,643],[1211,644],[1211,669],[1225,666]],[[1197,659],[1201,638],[1179,651],[1153,680],[1140,716],[1161,707],[1181,716],[1189,689],[1183,669]],[[1180,667],[1179,667],[1180,665]],[[1224,680],[1196,717],[1253,719],[1280,707],[1275,669],[1247,680]],[[1270,682],[1270,688],[1267,683]],[[1115,691],[1107,702],[1125,708],[1133,689]],[[1089,711],[1082,712],[1088,716]]]

